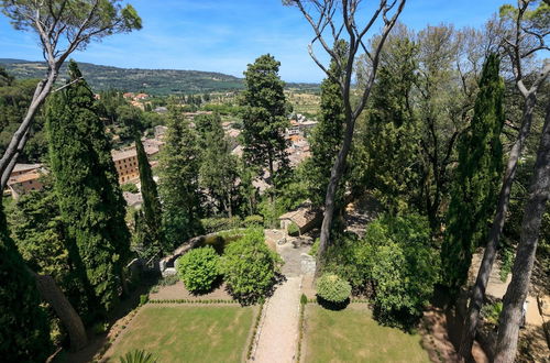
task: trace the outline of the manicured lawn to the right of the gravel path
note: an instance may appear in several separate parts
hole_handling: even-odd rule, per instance
[[[305,327],[306,362],[430,362],[419,336],[380,326],[363,304],[341,311],[309,304]]]

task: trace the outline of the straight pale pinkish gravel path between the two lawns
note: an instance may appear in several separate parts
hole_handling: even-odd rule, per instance
[[[252,361],[294,362],[298,342],[301,277],[288,277],[277,286],[265,307],[260,339]]]

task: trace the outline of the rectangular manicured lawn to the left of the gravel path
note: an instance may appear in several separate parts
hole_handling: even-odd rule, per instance
[[[109,362],[134,349],[160,363],[242,362],[250,342],[255,307],[146,305],[107,352]]]

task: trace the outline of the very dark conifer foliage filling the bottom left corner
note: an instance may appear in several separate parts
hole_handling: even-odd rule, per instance
[[[50,327],[0,204],[0,351],[6,362],[43,362],[51,353]]]

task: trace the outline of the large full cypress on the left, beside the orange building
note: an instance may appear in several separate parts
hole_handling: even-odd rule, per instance
[[[94,94],[70,62],[73,84],[46,109],[52,172],[72,261],[101,314],[117,302],[130,253],[125,202]],[[79,80],[78,80],[79,79]]]

